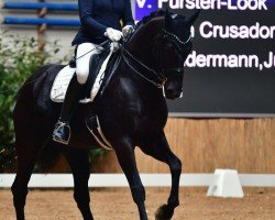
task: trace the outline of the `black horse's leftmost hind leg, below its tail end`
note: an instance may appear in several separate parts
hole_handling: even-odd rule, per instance
[[[18,172],[12,184],[13,205],[16,211],[16,219],[24,219],[24,206],[28,195],[28,183],[37,157],[37,148],[32,142],[16,141]]]

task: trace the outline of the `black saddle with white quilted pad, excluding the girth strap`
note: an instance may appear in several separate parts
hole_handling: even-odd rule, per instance
[[[102,95],[105,88],[108,86],[111,77],[121,61],[120,53],[114,53],[114,48],[106,48],[101,54],[94,54],[89,62],[89,76],[85,85],[85,92],[80,99],[80,103],[92,102],[98,94]],[[52,89],[51,99],[54,102],[64,102],[65,95],[76,72],[75,57],[59,70]],[[100,91],[100,92],[99,92]]]

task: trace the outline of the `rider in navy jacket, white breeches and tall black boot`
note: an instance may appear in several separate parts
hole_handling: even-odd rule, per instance
[[[69,142],[69,122],[88,78],[89,59],[91,55],[102,51],[98,44],[108,38],[112,42],[120,41],[122,36],[133,32],[134,25],[130,0],[78,0],[78,7],[81,26],[72,43],[76,45],[76,74],[69,82],[53,132],[53,140],[63,144]],[[84,55],[86,53],[88,54]],[[77,59],[78,57],[80,58]]]

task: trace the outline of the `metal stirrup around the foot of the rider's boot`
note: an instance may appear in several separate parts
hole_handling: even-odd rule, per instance
[[[65,122],[58,121],[55,124],[55,129],[53,132],[53,141],[68,145],[69,140],[70,140],[70,127]]]

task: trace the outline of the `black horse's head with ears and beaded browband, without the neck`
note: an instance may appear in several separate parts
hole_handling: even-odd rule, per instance
[[[160,45],[161,68],[167,78],[164,95],[168,99],[179,98],[183,94],[184,63],[191,52],[193,41],[190,28],[199,15],[197,10],[191,16],[165,13],[163,40]]]

